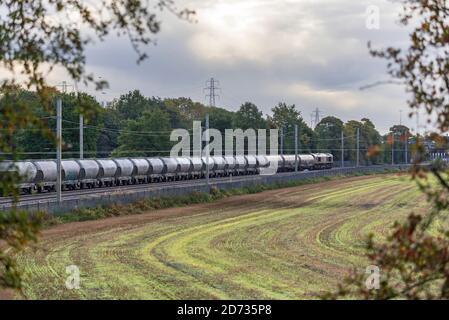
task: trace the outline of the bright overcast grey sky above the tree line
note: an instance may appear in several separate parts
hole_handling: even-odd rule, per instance
[[[220,81],[217,105],[237,110],[254,102],[265,114],[279,101],[296,104],[310,123],[311,112],[344,121],[368,117],[383,133],[399,122],[412,128],[406,95],[398,85],[359,90],[387,80],[385,62],[367,49],[403,46],[407,30],[397,24],[399,7],[387,0],[177,0],[197,11],[197,23],[161,15],[158,44],[137,66],[126,38],[91,46],[88,70],[107,79],[99,100],[129,90],[144,95],[191,97],[207,102],[207,79]],[[380,9],[380,28],[366,27],[367,8]]]

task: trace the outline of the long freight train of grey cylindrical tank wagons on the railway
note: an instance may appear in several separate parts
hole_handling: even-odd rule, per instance
[[[63,190],[112,187],[205,178],[255,175],[261,168],[277,163],[278,172],[294,171],[295,155],[247,155],[206,157],[154,157],[114,159],[64,159],[61,162]],[[332,154],[298,155],[299,170],[323,170],[333,166]],[[27,160],[0,163],[3,171],[18,171],[22,193],[55,191],[57,163],[55,160]]]

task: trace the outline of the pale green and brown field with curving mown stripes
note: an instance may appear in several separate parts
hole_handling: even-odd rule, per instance
[[[363,240],[427,203],[406,175],[236,196],[46,230],[19,257],[29,299],[303,299],[333,290]],[[81,271],[68,290],[65,268]]]

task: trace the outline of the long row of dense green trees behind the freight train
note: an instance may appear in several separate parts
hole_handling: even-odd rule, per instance
[[[96,110],[95,116],[87,117],[84,126],[84,153],[86,157],[125,157],[168,155],[175,142],[170,141],[173,129],[192,130],[192,122],[203,121],[209,114],[210,128],[225,133],[226,129],[274,129],[282,128],[285,154],[295,151],[294,130],[298,126],[298,149],[300,153],[330,152],[335,161],[341,161],[341,136],[343,132],[344,160],[355,162],[357,158],[357,130],[359,130],[360,164],[391,162],[392,134],[394,134],[394,161],[405,161],[404,150],[409,129],[393,126],[382,136],[374,123],[363,118],[360,121],[342,120],[328,116],[315,128],[303,119],[294,104],[280,102],[271,109],[271,115],[251,102],[243,103],[233,112],[224,108],[208,107],[189,98],[145,97],[138,90],[130,91],[101,107],[94,97],[86,94],[53,93],[62,96],[63,102],[63,157],[79,157],[79,113],[81,109]],[[51,130],[56,128],[54,114],[41,107],[33,92],[18,89],[14,103],[27,104],[32,112],[43,119]],[[0,100],[1,103],[1,100]],[[32,125],[20,130],[12,142],[14,148],[25,158],[54,157],[54,139],[33,129]]]

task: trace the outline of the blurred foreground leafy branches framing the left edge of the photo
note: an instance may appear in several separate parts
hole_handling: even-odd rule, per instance
[[[193,14],[191,10],[177,10],[172,1],[159,0],[155,4],[157,9],[168,9],[181,18]],[[26,89],[36,92],[44,113],[53,114],[55,92],[46,83],[47,71],[57,67],[74,82],[94,84],[97,89],[106,87],[105,80],[95,79],[86,70],[86,46],[105,40],[113,31],[130,40],[138,62],[144,60],[147,55],[142,46],[151,43],[152,35],[160,30],[154,8],[135,0],[102,0],[98,6],[82,0],[2,1],[0,62],[8,72],[2,74],[0,85],[0,161],[10,153],[13,160],[18,159],[15,137],[30,126],[54,138],[47,123],[18,99],[17,74]],[[86,118],[91,115],[91,105],[79,107]],[[3,195],[13,194],[17,200],[15,182],[19,178],[14,170],[0,173]],[[0,215],[0,286],[20,287],[20,273],[13,257],[35,240],[38,225],[39,219],[28,218],[14,208]]]

